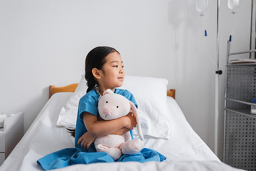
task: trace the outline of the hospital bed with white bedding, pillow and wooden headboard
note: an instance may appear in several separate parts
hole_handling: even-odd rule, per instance
[[[175,100],[175,90],[167,91],[167,84],[162,78],[125,76],[121,87],[138,103],[144,147],[155,149],[166,160],[76,164],[56,170],[239,170],[222,163],[194,132]],[[66,128],[75,127],[78,101],[86,90],[84,75],[78,84],[50,86],[50,99],[0,170],[44,170],[38,159],[74,147]],[[136,128],[133,134],[138,138]]]

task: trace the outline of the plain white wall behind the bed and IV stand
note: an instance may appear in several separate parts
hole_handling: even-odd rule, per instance
[[[24,111],[27,131],[48,100],[48,86],[78,82],[87,53],[96,46],[111,46],[121,53],[126,75],[168,79],[168,89],[176,89],[188,122],[213,149],[217,1],[209,1],[203,17],[195,4],[195,0],[0,1],[0,112]],[[222,71],[230,19],[227,0],[223,0]],[[250,1],[241,2],[234,26],[232,50],[249,49]],[[224,74],[220,79],[221,148],[223,108]]]

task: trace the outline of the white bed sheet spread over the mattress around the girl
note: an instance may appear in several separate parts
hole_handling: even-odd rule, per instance
[[[69,136],[66,128],[56,127],[58,114],[72,94],[56,93],[51,97],[23,139],[2,164],[0,170],[44,170],[36,163],[38,159],[60,149],[74,147],[74,138]],[[192,166],[201,170],[203,168],[209,170],[209,168],[215,168],[215,166],[225,168],[225,170],[233,170],[234,168],[220,162],[217,156],[193,131],[176,101],[168,97],[167,103],[170,106],[168,109],[171,125],[169,140],[145,136],[143,141],[144,147],[155,149],[163,154],[167,158],[166,161],[132,162],[132,164],[130,162],[97,163],[89,164],[90,166],[87,165],[86,167],[84,165],[73,165],[60,170],[80,170],[81,167],[83,169],[90,168],[90,170],[99,170],[98,167],[106,168],[106,170],[112,168],[111,170],[113,170],[113,167],[116,167],[117,170],[121,170],[120,166],[123,170],[131,170],[131,167],[134,169],[151,168],[150,170],[165,170],[165,168],[168,168],[166,170],[172,170],[169,168],[181,167],[186,170]]]

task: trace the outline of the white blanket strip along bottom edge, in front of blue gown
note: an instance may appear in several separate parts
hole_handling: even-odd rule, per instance
[[[175,161],[175,162],[115,162],[115,163],[94,163],[77,164],[66,168],[56,169],[56,171],[91,171],[91,170],[154,170],[154,171],[238,171],[241,169],[233,168],[227,164],[218,161]]]

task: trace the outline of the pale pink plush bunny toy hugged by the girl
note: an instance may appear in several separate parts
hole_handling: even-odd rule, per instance
[[[136,117],[139,137],[143,140],[140,118],[137,108],[132,101],[108,89],[103,93],[98,104],[99,115],[104,120],[117,119],[125,116],[130,112],[130,109],[132,109],[133,115]],[[143,142],[139,139],[132,140],[130,132],[122,136],[110,134],[97,137],[94,141],[94,145],[97,152],[106,152],[113,157],[114,160],[119,159],[122,154],[132,155],[139,153],[144,146]]]

